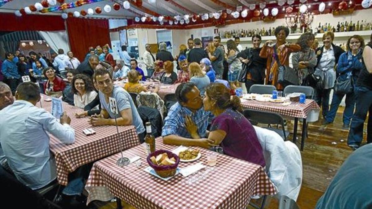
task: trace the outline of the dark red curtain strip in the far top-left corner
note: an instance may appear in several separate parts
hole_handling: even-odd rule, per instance
[[[22,15],[0,13],[0,31],[20,30],[65,30],[64,20],[60,15]]]

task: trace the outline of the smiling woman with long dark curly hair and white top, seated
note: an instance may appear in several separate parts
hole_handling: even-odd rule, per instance
[[[92,80],[84,74],[74,76],[72,80],[72,92],[74,93],[74,105],[81,109],[84,109],[97,96]]]

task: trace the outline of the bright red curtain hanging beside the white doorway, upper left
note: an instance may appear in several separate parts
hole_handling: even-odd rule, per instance
[[[108,20],[68,17],[67,31],[71,51],[80,61],[84,60],[89,46],[111,45]]]

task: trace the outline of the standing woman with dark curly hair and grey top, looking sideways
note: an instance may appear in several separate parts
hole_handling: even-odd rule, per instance
[[[297,40],[297,44],[301,46],[301,51],[292,54],[293,68],[298,73],[299,84],[307,85],[305,78],[314,73],[314,67],[317,65],[317,56],[311,48],[314,44],[315,36],[310,33],[303,33]]]

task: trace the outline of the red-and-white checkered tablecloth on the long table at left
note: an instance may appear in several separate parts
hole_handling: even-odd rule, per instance
[[[43,95],[42,106],[51,112],[52,102],[45,102],[50,98]],[[120,152],[120,139],[123,149],[132,148],[140,141],[134,126],[119,126],[119,135],[116,126],[93,127],[88,123],[89,118],[76,118],[74,113],[83,111],[78,107],[63,103],[63,109],[71,118],[71,127],[75,130],[75,142],[70,145],[62,144],[55,136],[50,136],[49,149],[54,154],[57,167],[57,180],[61,185],[67,185],[68,174],[81,165],[99,160],[103,157]],[[40,107],[40,103],[37,104]],[[86,136],[83,129],[93,128],[96,134]]]

